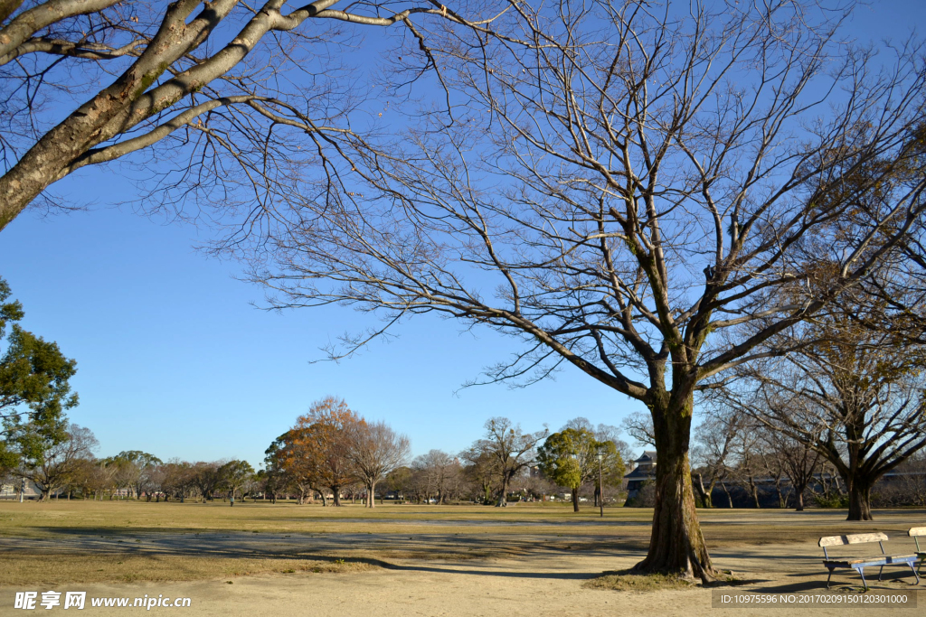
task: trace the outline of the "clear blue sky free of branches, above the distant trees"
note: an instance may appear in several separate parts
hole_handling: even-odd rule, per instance
[[[926,3],[882,2],[855,19],[860,37],[897,38],[924,23]],[[81,405],[100,456],[145,450],[166,460],[244,458],[257,466],[270,441],[311,401],[344,397],[368,418],[412,440],[415,454],[456,452],[494,415],[527,430],[557,429],[582,415],[619,425],[640,403],[571,367],[528,389],[464,389],[516,343],[489,330],[460,333],[421,317],[400,339],[340,364],[309,364],[319,347],[361,315],[340,307],[283,314],[254,308],[262,290],[235,279],[240,267],[197,253],[195,228],[114,208],[131,187],[118,167],[85,170],[55,187],[90,211],[19,216],[0,234],[0,276],[26,310],[24,327],[56,340],[78,361]]]

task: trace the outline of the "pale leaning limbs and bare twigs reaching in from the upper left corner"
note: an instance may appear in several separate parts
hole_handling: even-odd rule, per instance
[[[351,134],[346,116],[376,87],[345,71],[363,31],[401,30],[366,43],[393,52],[385,81],[401,89],[434,67],[429,16],[475,31],[491,21],[437,0],[4,0],[0,229],[39,196],[71,206],[44,191],[81,167],[155,146],[134,159],[150,172],[144,191],[231,210],[240,183],[253,223],[300,164],[325,166]]]

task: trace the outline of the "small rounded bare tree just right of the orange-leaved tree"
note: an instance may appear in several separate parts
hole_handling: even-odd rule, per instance
[[[384,422],[363,422],[348,427],[344,453],[357,479],[367,487],[367,507],[376,507],[376,484],[408,460],[408,438]]]

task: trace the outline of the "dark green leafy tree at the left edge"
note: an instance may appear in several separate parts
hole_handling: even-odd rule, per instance
[[[35,458],[64,440],[65,410],[78,402],[69,384],[77,363],[55,342],[13,323],[24,313],[19,302],[7,302],[9,296],[9,285],[0,278],[0,344],[6,347],[0,355],[0,467],[7,468],[20,456]]]

